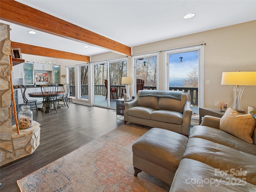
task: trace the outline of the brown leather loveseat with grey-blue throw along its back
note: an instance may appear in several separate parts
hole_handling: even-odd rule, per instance
[[[124,122],[163,128],[188,135],[192,110],[190,94],[180,91],[139,90],[125,103]]]

